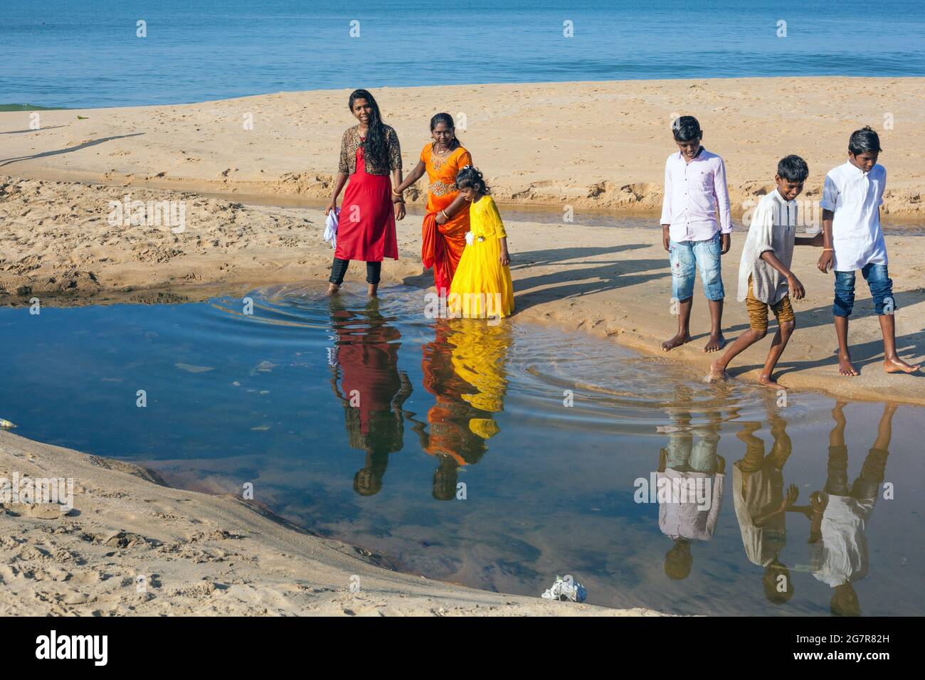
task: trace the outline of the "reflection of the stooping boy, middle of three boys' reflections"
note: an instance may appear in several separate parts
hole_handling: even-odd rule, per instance
[[[798,510],[794,506],[796,485],[783,491],[783,465],[793,449],[783,419],[772,416],[774,444],[765,456],[764,441],[754,435],[759,427],[759,423],[746,423],[737,435],[746,444],[746,454],[733,464],[733,503],[746,556],[765,568],[761,579],[765,597],[783,604],[794,594],[790,571],[779,560],[786,545],[784,513]]]

